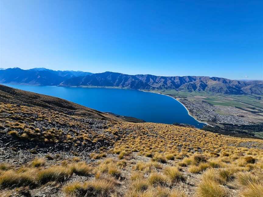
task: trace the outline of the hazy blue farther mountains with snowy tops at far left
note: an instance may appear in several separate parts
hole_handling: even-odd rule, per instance
[[[22,70],[16,67],[0,70],[0,83],[21,85],[58,85],[66,79],[86,76],[88,74],[92,73],[82,71],[53,71],[46,68]]]

